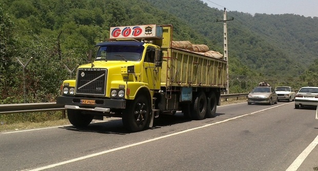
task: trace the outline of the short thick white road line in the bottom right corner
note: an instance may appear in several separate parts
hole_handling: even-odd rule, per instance
[[[294,160],[293,163],[286,169],[286,171],[296,171],[311,153],[311,151],[318,144],[318,136],[304,149],[304,151]]]

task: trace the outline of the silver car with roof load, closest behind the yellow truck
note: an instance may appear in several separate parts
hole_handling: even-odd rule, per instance
[[[247,104],[252,103],[272,103],[277,104],[277,94],[272,87],[255,87],[247,96]]]

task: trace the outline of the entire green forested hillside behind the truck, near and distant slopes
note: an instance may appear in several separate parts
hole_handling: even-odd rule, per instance
[[[234,16],[228,22],[231,93],[262,80],[295,87],[318,82],[312,80],[318,78],[317,17],[228,15]],[[23,102],[28,61],[27,102],[55,101],[62,80],[74,77],[68,69],[87,62],[89,49],[112,26],[172,24],[175,40],[223,53],[223,23],[216,19],[223,11],[199,0],[0,0],[0,103]]]

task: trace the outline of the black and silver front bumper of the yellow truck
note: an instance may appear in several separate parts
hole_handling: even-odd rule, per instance
[[[95,104],[82,104],[81,99],[95,100]],[[56,104],[64,104],[64,107],[66,109],[107,112],[107,113],[109,113],[111,109],[126,108],[126,100],[124,99],[103,99],[103,98],[58,96],[56,99]]]

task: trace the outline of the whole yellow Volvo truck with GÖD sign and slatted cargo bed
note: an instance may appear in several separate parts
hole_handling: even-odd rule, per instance
[[[226,91],[227,62],[172,47],[171,25],[111,27],[110,39],[96,50],[75,79],[63,81],[56,100],[74,126],[121,117],[129,132],[138,132],[176,111],[211,118]]]

